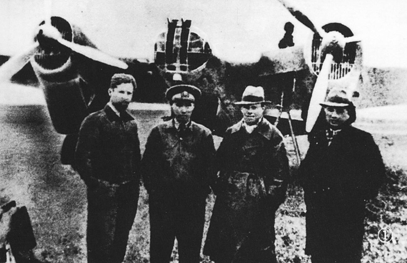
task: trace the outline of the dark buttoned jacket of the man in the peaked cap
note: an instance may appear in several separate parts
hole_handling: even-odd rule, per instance
[[[151,131],[142,160],[144,186],[154,189],[210,192],[214,173],[214,144],[208,128],[190,122],[179,132],[173,120],[159,124]]]

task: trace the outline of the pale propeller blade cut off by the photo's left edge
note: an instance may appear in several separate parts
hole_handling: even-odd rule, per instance
[[[14,55],[0,67],[0,82],[9,81],[11,77],[19,72],[30,58],[37,52],[38,42],[20,54]]]

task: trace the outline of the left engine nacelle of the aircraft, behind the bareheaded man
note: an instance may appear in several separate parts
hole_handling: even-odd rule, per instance
[[[44,21],[39,25],[42,24]],[[63,39],[95,48],[80,28],[71,26],[63,18],[51,17],[51,25],[57,28]],[[79,72],[87,71],[80,68],[83,64],[81,57],[57,41],[44,39],[41,34],[35,40],[40,42],[40,48],[30,62],[44,90],[53,126],[58,133],[77,134],[81,122],[89,114],[88,106],[92,100],[89,92],[84,94],[87,82]]]

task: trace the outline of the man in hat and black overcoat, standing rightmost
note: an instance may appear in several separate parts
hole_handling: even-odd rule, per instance
[[[309,135],[300,166],[306,212],[306,254],[313,263],[360,262],[365,204],[385,176],[372,135],[352,127],[356,111],[343,89],[328,93],[325,125]]]

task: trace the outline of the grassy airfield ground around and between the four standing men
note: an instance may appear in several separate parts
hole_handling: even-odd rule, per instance
[[[139,121],[142,151],[151,128],[164,111],[134,111]],[[9,196],[25,205],[37,237],[35,255],[49,263],[86,262],[85,185],[70,166],[61,165],[59,151],[63,135],[50,124],[44,106],[0,107],[0,197]],[[398,263],[407,261],[407,137],[374,135],[388,167],[387,184],[379,198],[369,205],[366,220],[363,263]],[[304,136],[298,137],[302,156],[308,147]],[[221,138],[216,138],[219,145]],[[304,254],[305,211],[302,189],[295,183],[295,158],[287,138],[291,162],[291,184],[287,200],[276,212],[276,253],[279,262],[309,263]],[[208,196],[207,225],[214,203]],[[138,211],[125,263],[149,262],[149,214],[147,193],[141,189]],[[389,243],[381,243],[378,230],[388,226],[393,231]],[[173,262],[177,255],[173,253]],[[202,262],[209,263],[207,258]]]

